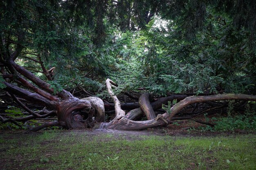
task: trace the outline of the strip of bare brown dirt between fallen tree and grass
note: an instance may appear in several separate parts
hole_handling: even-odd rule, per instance
[[[98,130],[91,130],[91,129],[83,129],[83,130],[60,130],[61,132],[74,132],[74,133],[81,133],[84,135],[86,131],[86,135],[101,135],[101,134],[111,134],[116,137],[125,137],[129,139],[129,136],[140,136],[140,135],[158,135],[158,136],[177,136],[177,137],[193,137],[193,136],[218,136],[218,135],[236,135],[236,134],[247,134],[256,132],[248,132],[245,130],[235,130],[234,132],[210,132],[210,131],[202,131],[197,129],[200,126],[204,126],[199,124],[195,121],[191,120],[184,120],[184,121],[176,121],[177,124],[169,124],[166,127],[157,127],[157,128],[148,128],[146,130],[137,130],[137,131],[128,131],[128,130],[111,130],[111,129],[98,129]],[[190,128],[193,128],[192,130]],[[38,132],[28,132],[26,130],[0,130],[1,134],[12,133],[14,136],[19,135],[20,133],[26,134],[40,134],[44,132],[44,130],[40,130]]]

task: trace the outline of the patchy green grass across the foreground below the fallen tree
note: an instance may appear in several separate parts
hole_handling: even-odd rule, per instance
[[[256,169],[256,136],[45,131],[0,134],[1,170]]]

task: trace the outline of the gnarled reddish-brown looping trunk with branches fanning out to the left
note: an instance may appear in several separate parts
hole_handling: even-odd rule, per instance
[[[28,102],[45,106],[48,109],[56,110],[54,111],[54,113],[56,113],[58,117],[58,124],[60,124],[60,126],[62,126],[63,128],[87,128],[89,123],[94,121],[88,120],[93,119],[91,115],[94,115],[94,110],[96,110],[97,112],[96,121],[105,121],[104,106],[101,99],[97,97],[78,99],[65,90],[56,92],[56,95],[58,97],[55,97],[54,89],[50,84],[43,81],[39,77],[36,77],[33,73],[27,71],[27,69],[14,62],[14,60],[16,59],[15,56],[18,55],[19,52],[20,49],[17,49],[10,57],[2,56],[6,60],[0,61],[4,63],[4,65],[1,66],[2,77],[6,79],[5,82],[2,82],[4,85],[4,90],[11,94],[14,101],[16,101],[19,106],[21,106],[28,113],[31,114],[27,117],[16,118],[16,121],[26,121],[33,118],[43,118],[52,115],[51,111],[43,115],[32,111],[25,104],[23,104],[18,97],[26,99],[26,101]],[[40,65],[42,69],[47,72],[47,70],[43,66],[43,63],[41,63]],[[11,74],[7,75],[6,72]],[[48,75],[47,73],[45,74]],[[21,77],[21,75],[24,76],[26,79]],[[47,78],[50,81],[52,80],[49,75],[47,76]],[[10,82],[12,81],[22,85],[29,90],[11,84]],[[82,112],[82,110],[86,109],[89,110],[89,112],[85,114]],[[15,120],[1,119],[3,123],[7,121],[13,122]],[[94,124],[94,122],[92,122],[92,124]],[[49,124],[47,126],[51,125],[53,124]]]

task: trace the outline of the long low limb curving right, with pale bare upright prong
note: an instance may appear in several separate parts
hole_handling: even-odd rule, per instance
[[[108,84],[111,80],[106,81]],[[111,89],[110,89],[111,90]],[[113,92],[111,92],[111,96],[114,96]],[[150,119],[147,121],[132,121],[128,118],[132,118],[132,115],[124,116],[123,110],[121,110],[120,102],[117,98],[112,97],[115,102],[116,107],[116,117],[110,121],[109,123],[101,123],[96,128],[108,128],[108,129],[118,129],[118,130],[142,130],[145,128],[153,128],[157,126],[166,126],[168,125],[173,117],[184,107],[199,103],[199,102],[209,102],[209,101],[220,101],[220,100],[228,100],[228,99],[239,99],[239,100],[252,100],[256,101],[256,96],[252,95],[240,95],[240,94],[224,94],[224,95],[212,95],[212,96],[193,96],[186,97],[182,101],[178,102],[171,108],[171,113],[164,113],[163,115],[159,114],[155,119]],[[121,110],[121,114],[119,113]],[[139,112],[137,110],[137,112]],[[201,121],[202,122],[202,121]]]

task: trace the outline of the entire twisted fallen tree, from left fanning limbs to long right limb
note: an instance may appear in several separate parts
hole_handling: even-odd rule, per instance
[[[5,65],[4,65],[5,66]],[[57,92],[58,97],[54,96],[54,91],[47,82],[36,77],[34,74],[27,71],[22,66],[19,66],[14,62],[14,60],[7,60],[8,71],[11,75],[6,75],[3,69],[2,75],[7,81],[3,82],[4,90],[11,93],[13,99],[20,105],[22,108],[27,110],[31,115],[20,118],[20,119],[1,119],[1,122],[16,122],[24,121],[31,118],[46,117],[48,115],[53,115],[56,113],[58,117],[58,124],[63,128],[75,129],[75,128],[87,128],[94,126],[94,129],[97,128],[109,128],[109,129],[118,129],[118,130],[142,130],[145,128],[153,128],[157,126],[167,126],[171,121],[178,119],[174,116],[179,113],[180,110],[185,108],[190,104],[200,103],[200,102],[211,102],[211,101],[222,101],[229,99],[238,99],[238,100],[252,100],[256,101],[256,96],[252,95],[242,95],[242,94],[222,94],[222,95],[211,95],[211,96],[192,96],[187,97],[186,95],[172,95],[168,97],[163,97],[156,102],[150,103],[150,95],[148,93],[142,95],[139,99],[138,104],[126,104],[130,108],[135,108],[131,110],[128,114],[125,114],[125,111],[122,109],[122,104],[119,99],[112,92],[111,86],[117,86],[117,84],[110,79],[106,80],[107,90],[112,98],[114,104],[106,104],[97,97],[88,97],[85,99],[78,99],[74,97],[71,93],[62,90]],[[26,77],[22,78],[19,74]],[[10,83],[9,80],[17,78],[17,83],[22,82],[22,86],[25,86],[27,89],[20,88]],[[34,84],[32,84],[34,83]],[[37,87],[38,86],[38,87]],[[41,88],[41,89],[39,89]],[[36,103],[41,106],[46,106],[48,109],[56,110],[54,112],[49,111],[46,114],[39,114],[31,109],[29,109],[25,104],[22,104],[22,99],[26,99],[31,103]],[[155,116],[154,110],[161,108],[162,104],[167,104],[168,101],[177,99],[177,104],[175,104],[170,109],[170,113],[164,113],[163,115],[159,114]],[[115,118],[106,123],[105,122],[105,110],[104,105],[115,107]],[[138,108],[140,105],[142,111],[147,116],[148,120],[146,121],[135,121],[139,120],[144,113]],[[125,106],[125,104],[123,104]],[[188,117],[184,117],[188,118]],[[196,120],[198,121],[198,120]],[[55,123],[49,123],[47,126],[55,125]],[[45,125],[46,126],[46,125]],[[41,126],[44,127],[44,126]],[[38,128],[40,129],[40,128]]]

